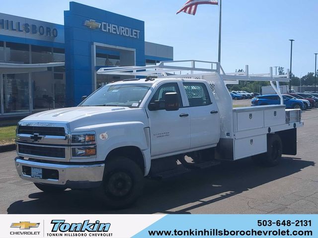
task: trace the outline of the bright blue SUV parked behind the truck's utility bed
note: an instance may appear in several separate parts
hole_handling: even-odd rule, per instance
[[[283,96],[284,104],[286,108],[291,109],[302,109],[305,110],[305,105],[301,100],[298,99],[289,99],[286,96]],[[262,106],[262,105],[279,105],[280,98],[277,94],[261,95],[256,96],[252,99],[252,106]]]

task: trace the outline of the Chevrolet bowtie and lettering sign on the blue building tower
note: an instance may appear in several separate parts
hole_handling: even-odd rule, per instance
[[[95,20],[86,20],[84,26],[90,29],[100,29],[103,32],[112,33],[120,36],[127,36],[139,39],[140,31],[125,26],[119,26],[108,22],[98,23]]]

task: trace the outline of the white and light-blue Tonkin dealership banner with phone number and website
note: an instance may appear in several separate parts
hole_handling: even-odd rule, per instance
[[[318,215],[0,215],[0,238],[318,238]]]

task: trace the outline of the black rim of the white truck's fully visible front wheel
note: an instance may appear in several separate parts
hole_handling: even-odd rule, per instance
[[[114,197],[127,196],[133,187],[131,177],[125,172],[115,172],[109,176],[106,190]]]

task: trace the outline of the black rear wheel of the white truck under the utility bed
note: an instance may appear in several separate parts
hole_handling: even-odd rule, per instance
[[[279,164],[282,158],[283,144],[277,134],[269,134],[267,137],[267,152],[252,157],[257,165],[273,167]]]

